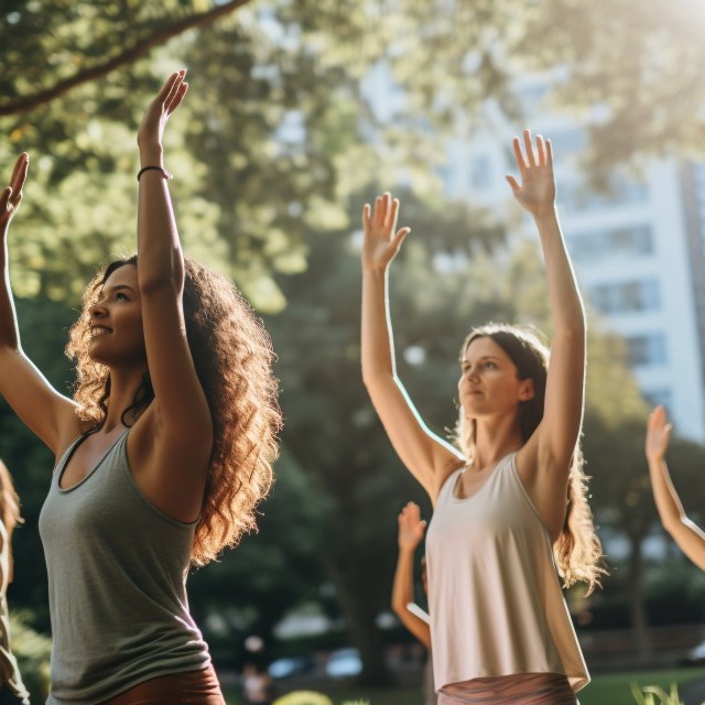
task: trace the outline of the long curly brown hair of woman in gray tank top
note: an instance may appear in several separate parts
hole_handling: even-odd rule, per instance
[[[74,399],[82,420],[99,430],[107,415],[110,371],[90,359],[90,306],[108,276],[137,254],[111,262],[90,281],[80,317],[69,330],[66,355],[76,364]],[[274,352],[262,321],[235,284],[191,258],[184,261],[186,337],[213,419],[213,453],[191,560],[205,565],[242,533],[256,529],[254,509],[269,492],[281,426]],[[149,371],[122,412],[131,425],[154,399]]]

